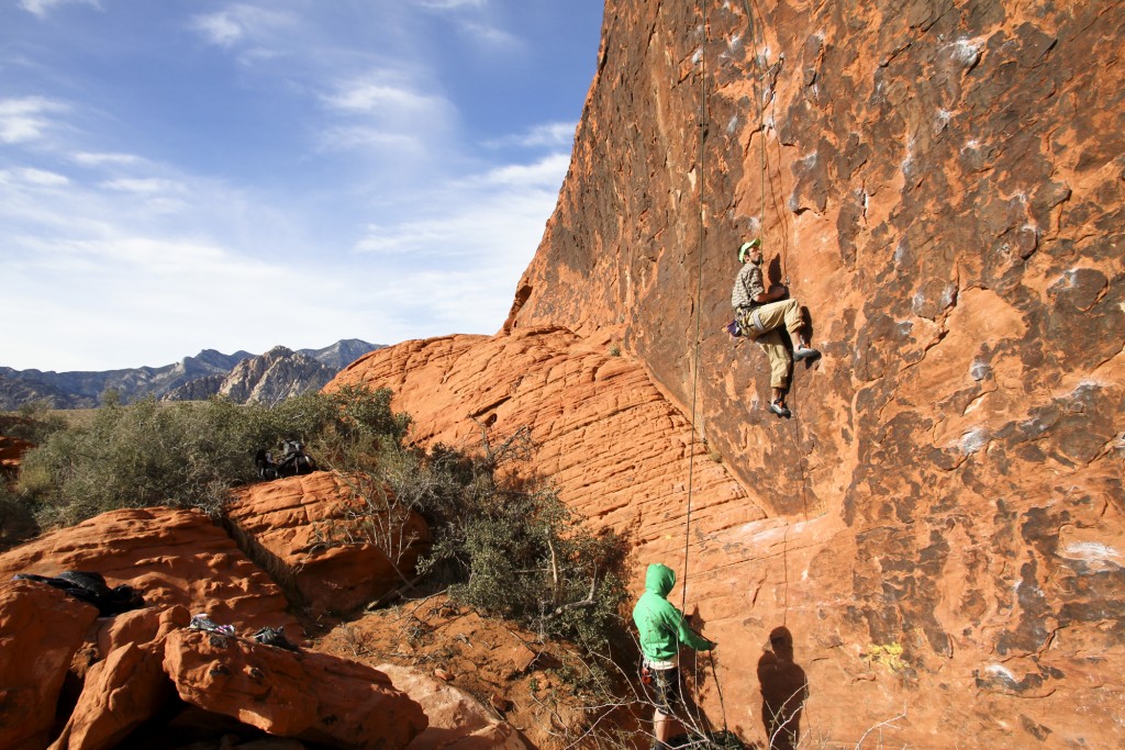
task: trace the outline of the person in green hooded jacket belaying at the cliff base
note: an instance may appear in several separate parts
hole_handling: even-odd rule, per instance
[[[680,702],[680,649],[688,645],[696,651],[710,651],[717,643],[698,634],[684,615],[668,602],[668,591],[676,585],[676,573],[666,564],[654,562],[645,575],[645,593],[633,607],[633,622],[640,633],[640,650],[645,657],[642,683],[651,687],[649,697],[656,705],[652,715],[655,750],[667,748],[672,726],[668,716]]]

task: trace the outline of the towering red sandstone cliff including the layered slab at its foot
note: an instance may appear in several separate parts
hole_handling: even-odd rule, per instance
[[[884,741],[1113,747],[1123,42],[1120,3],[610,0],[504,331],[335,382],[395,388],[423,441],[528,424],[640,563],[683,572],[688,539],[745,740],[785,625],[806,738],[850,747],[906,713]],[[764,354],[721,332],[758,227],[825,352],[788,422]]]

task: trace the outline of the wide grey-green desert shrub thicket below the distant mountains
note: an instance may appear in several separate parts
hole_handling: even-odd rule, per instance
[[[259,448],[296,439],[342,454],[360,443],[396,444],[407,425],[392,413],[388,390],[305,394],[273,407],[223,398],[122,405],[110,395],[89,424],[53,432],[30,450],[20,485],[51,524],[153,505],[217,515],[232,487],[256,478]]]

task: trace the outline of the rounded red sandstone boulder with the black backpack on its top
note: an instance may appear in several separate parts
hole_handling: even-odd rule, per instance
[[[430,543],[421,516],[369,484],[317,471],[251,485],[227,517],[314,613],[349,612],[413,578]]]

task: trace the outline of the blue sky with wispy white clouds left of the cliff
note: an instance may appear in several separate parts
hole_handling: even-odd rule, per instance
[[[0,365],[495,333],[601,0],[0,0]]]

